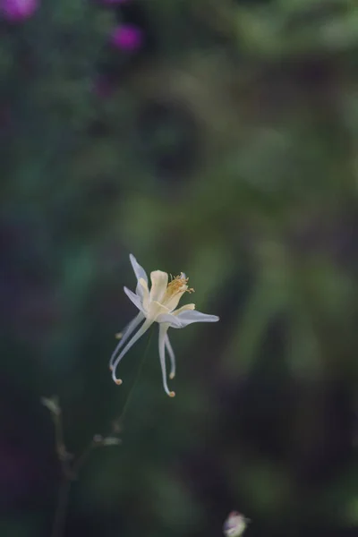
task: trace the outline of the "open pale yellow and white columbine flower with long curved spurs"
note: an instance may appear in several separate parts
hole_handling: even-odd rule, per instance
[[[124,328],[122,338],[119,344],[115,348],[115,352],[112,354],[109,362],[109,368],[112,371],[112,378],[116,384],[122,384],[122,380],[115,376],[115,370],[119,362],[121,362],[124,354],[134,345],[134,343],[148,330],[148,328],[154,323],[158,322],[159,325],[159,358],[162,367],[163,374],[163,386],[166,390],[166,394],[170,397],[175,396],[175,392],[169,391],[166,383],[166,351],[169,354],[171,362],[171,371],[169,378],[175,377],[175,354],[170,345],[169,337],[167,335],[168,328],[184,328],[192,322],[216,322],[218,317],[216,315],[207,315],[195,311],[195,304],[186,304],[181,308],[175,310],[181,297],[184,293],[192,293],[193,289],[188,287],[188,278],[183,272],[179,276],[171,277],[170,281],[166,272],[161,270],[154,270],[150,273],[151,287],[149,291],[148,277],[141,265],[137,262],[135,257],[129,256],[134,274],[137,277],[138,283],[136,292],[132,293],[127,287],[124,287],[124,293],[132,301],[132,303],[139,309],[138,315]],[[135,328],[137,328],[141,322],[141,328],[132,336],[127,345],[124,343],[132,335]],[[122,349],[122,347],[124,347]],[[122,351],[119,353],[120,349]]]

